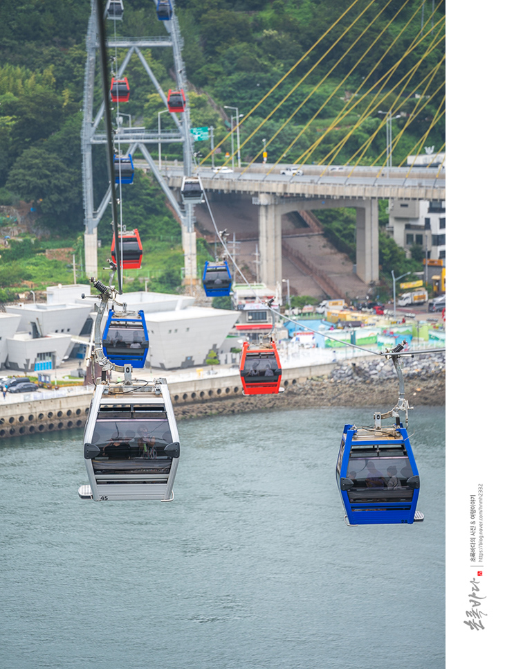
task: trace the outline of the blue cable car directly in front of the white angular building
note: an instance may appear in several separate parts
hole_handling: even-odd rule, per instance
[[[104,355],[116,365],[142,368],[149,350],[149,335],[144,312],[116,314],[109,309],[102,346]]]

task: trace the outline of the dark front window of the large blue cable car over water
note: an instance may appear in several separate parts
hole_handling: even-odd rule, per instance
[[[351,449],[347,479],[350,502],[412,501],[414,490],[407,484],[412,467],[403,447]]]

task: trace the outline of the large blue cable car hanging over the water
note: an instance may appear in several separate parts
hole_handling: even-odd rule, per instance
[[[419,472],[399,420],[392,427],[345,425],[336,474],[348,525],[424,519],[416,511]]]

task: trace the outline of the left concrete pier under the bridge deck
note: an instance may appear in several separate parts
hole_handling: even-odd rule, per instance
[[[259,280],[275,288],[282,281],[282,210],[275,195],[258,194]]]

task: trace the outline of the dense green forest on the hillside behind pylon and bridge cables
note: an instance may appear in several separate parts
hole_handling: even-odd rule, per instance
[[[106,22],[109,35],[166,35],[156,19],[156,3],[124,1],[124,20]],[[231,146],[225,105],[244,114],[243,161],[261,161],[266,144],[269,162],[381,166],[385,110],[394,116],[395,165],[424,145],[444,149],[445,3],[178,0],[174,8],[184,39],[192,126],[214,127],[215,143],[222,142],[218,163]],[[82,0],[2,0],[0,5],[0,205],[29,202],[52,238],[73,240],[78,258],[89,12],[90,4]],[[174,88],[172,50],[143,53],[163,90]],[[111,68],[123,55],[109,53]],[[131,58],[127,76],[132,94],[121,111],[134,125],[157,127],[163,104],[138,57]],[[98,77],[95,84],[98,105]],[[161,118],[169,127],[169,115]],[[200,142],[198,148],[210,161],[210,144]],[[163,157],[181,159],[181,145],[165,145]],[[103,148],[94,150],[93,161],[100,195],[107,183]],[[163,242],[173,254],[171,268],[157,266],[155,277],[159,287],[173,289],[183,265],[180,231],[162,195],[142,176],[122,197],[124,214],[148,245],[149,238],[153,249]],[[345,237],[345,220],[339,213],[324,222]],[[53,242],[26,247],[22,257],[29,256],[31,264],[10,257],[19,250],[4,252],[0,286],[12,285],[6,283],[6,262],[18,262],[19,280],[39,285],[37,271],[26,268],[35,266],[35,256],[48,244]],[[383,265],[394,262],[395,269],[404,269],[410,262],[402,253],[394,256],[387,251]]]

